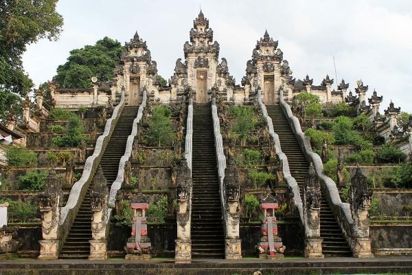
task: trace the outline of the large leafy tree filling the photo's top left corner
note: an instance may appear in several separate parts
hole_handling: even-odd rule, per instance
[[[57,0],[3,0],[0,2],[0,91],[27,94],[33,86],[21,56],[26,45],[39,39],[56,40],[63,19]]]

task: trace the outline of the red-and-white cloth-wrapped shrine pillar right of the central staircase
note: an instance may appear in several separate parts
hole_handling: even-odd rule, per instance
[[[282,239],[277,236],[277,220],[275,210],[279,208],[277,199],[272,196],[271,188],[266,189],[266,195],[260,200],[260,209],[262,209],[262,237],[258,243],[258,252],[260,259],[279,259],[284,257],[286,247]]]

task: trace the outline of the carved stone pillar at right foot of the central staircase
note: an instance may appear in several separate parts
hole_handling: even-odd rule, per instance
[[[239,237],[239,171],[232,158],[229,157],[229,165],[225,169],[225,203],[226,203],[226,238],[225,238],[225,259],[242,259],[242,248]]]

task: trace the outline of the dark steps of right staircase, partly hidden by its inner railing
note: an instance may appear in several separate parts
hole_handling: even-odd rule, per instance
[[[304,178],[309,168],[308,160],[280,105],[266,105],[266,110],[272,118],[273,130],[279,135],[282,152],[288,157],[290,174],[296,179],[303,200]],[[343,236],[323,194],[321,200],[321,238],[323,238],[322,251],[325,256],[352,256],[345,236]]]

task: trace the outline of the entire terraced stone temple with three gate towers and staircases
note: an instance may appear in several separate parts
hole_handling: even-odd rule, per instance
[[[51,81],[49,98],[42,90],[35,103],[25,98],[21,121],[10,111],[0,125],[1,180],[10,194],[1,192],[24,197],[30,180],[21,175],[48,175],[41,190],[30,187],[38,198],[23,199],[38,200],[33,215],[41,234],[12,230],[0,219],[0,232],[8,236],[0,243],[10,244],[0,245],[0,252],[26,251],[41,260],[166,256],[176,264],[411,254],[402,222],[389,234],[377,220],[395,213],[408,220],[412,186],[405,184],[399,199],[389,179],[374,185],[380,170],[410,165],[411,117],[401,121],[393,102],[380,113],[382,96],[374,90],[367,98],[361,80],[354,93],[344,80],[333,89],[336,80],[328,75],[319,85],[308,75],[296,80],[267,31],[236,84],[202,11],[189,34],[165,87],[148,43],[136,32],[111,81],[93,77],[88,89]],[[307,94],[316,98],[317,113],[299,102]],[[56,110],[71,116],[58,117]],[[357,139],[339,140],[335,130],[343,116],[352,127],[345,131]],[[87,138],[67,137],[80,131],[76,123]],[[316,140],[313,131],[325,133]],[[14,145],[35,153],[36,164],[17,164],[7,153]],[[385,184],[393,190],[382,191]],[[36,245],[16,230],[29,232]],[[407,243],[399,241],[402,234]]]

